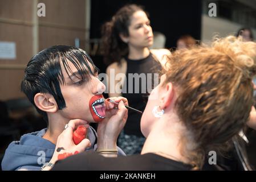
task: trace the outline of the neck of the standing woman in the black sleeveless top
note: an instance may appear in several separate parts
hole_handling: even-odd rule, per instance
[[[128,59],[132,60],[140,60],[144,59],[149,55],[150,51],[147,47],[140,48],[140,47],[129,47],[129,54]]]

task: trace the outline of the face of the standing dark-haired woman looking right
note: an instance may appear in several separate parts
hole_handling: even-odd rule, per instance
[[[128,27],[128,45],[133,47],[150,47],[153,44],[153,32],[148,16],[144,11],[136,11]]]

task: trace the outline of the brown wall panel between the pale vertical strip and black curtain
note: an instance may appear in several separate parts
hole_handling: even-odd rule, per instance
[[[44,0],[46,17],[39,18],[39,50],[57,45],[75,45],[75,38],[84,44],[85,1]],[[83,45],[82,45],[83,46]]]

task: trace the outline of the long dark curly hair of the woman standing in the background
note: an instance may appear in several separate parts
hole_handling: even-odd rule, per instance
[[[129,36],[128,27],[131,23],[131,16],[136,11],[144,11],[144,9],[135,4],[126,5],[118,10],[109,22],[103,24],[101,29],[102,51],[106,64],[120,63],[121,57],[128,55],[128,45],[120,39],[119,35]]]

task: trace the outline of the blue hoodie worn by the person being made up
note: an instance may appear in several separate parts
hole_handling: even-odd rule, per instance
[[[34,133],[25,134],[19,141],[9,144],[2,160],[2,169],[6,170],[27,170],[39,171],[44,163],[49,162],[54,154],[55,144],[46,140],[43,135],[47,129],[36,131]],[[96,150],[97,133],[90,127],[88,129],[87,138],[92,146],[86,150]],[[125,155],[119,147],[118,155]]]

